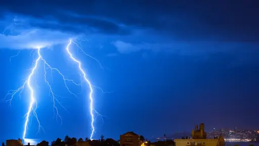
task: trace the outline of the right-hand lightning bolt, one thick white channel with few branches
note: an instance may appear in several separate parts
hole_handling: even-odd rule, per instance
[[[84,70],[82,69],[81,62],[78,61],[78,60],[76,60],[76,59],[73,57],[72,53],[69,51],[69,47],[70,47],[71,44],[72,44],[72,40],[70,39],[70,41],[69,41],[69,43],[68,43],[68,45],[67,45],[67,47],[66,47],[67,53],[69,54],[69,57],[70,57],[74,62],[76,62],[76,63],[78,64],[78,68],[79,68],[79,70],[81,71],[81,73],[83,74],[83,79],[85,80],[85,82],[88,83],[89,88],[90,88],[90,93],[89,93],[89,99],[90,99],[90,115],[91,115],[91,118],[92,118],[92,120],[91,120],[92,133],[91,133],[90,139],[93,139],[93,135],[94,135],[94,132],[95,132],[95,126],[94,126],[94,122],[95,122],[94,111],[95,111],[95,109],[94,109],[94,103],[93,103],[94,101],[93,101],[93,97],[92,97],[92,95],[93,95],[93,88],[92,88],[91,82],[90,82],[90,81],[88,80],[88,78],[87,78],[87,75],[85,74]],[[78,46],[78,45],[77,45],[77,46]],[[78,46],[78,47],[79,47],[79,46]],[[80,47],[79,47],[79,48],[80,48]],[[100,62],[99,62],[99,63],[100,63]],[[95,112],[96,112],[96,111],[95,111]],[[97,112],[96,112],[96,113],[97,113]]]

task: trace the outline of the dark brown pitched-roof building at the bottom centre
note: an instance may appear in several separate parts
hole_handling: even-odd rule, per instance
[[[120,146],[140,146],[143,141],[140,139],[140,135],[134,132],[127,132],[120,135]]]

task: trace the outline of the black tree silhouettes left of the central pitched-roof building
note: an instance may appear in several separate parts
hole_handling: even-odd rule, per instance
[[[75,145],[77,142],[83,142],[83,141],[87,141],[89,142],[89,144],[91,146],[97,146],[97,145],[107,145],[107,146],[119,146],[119,140],[114,140],[112,138],[107,138],[104,139],[104,136],[101,135],[100,139],[94,139],[91,140],[88,137],[82,139],[79,138],[78,140],[75,137],[70,138],[68,135],[65,136],[64,140],[62,140],[61,138],[57,138],[56,140],[52,141],[51,143],[49,143],[46,140],[43,140],[41,142],[39,142],[37,144],[37,146],[72,146]]]

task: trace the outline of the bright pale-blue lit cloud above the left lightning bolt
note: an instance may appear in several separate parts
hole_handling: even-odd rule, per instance
[[[20,18],[20,17],[19,17]],[[21,17],[24,18],[24,17]],[[10,22],[10,20],[12,20]],[[36,49],[48,48],[53,45],[66,44],[68,38],[76,40],[81,34],[70,34],[58,30],[35,28],[30,26],[36,19],[19,19],[6,17],[1,20],[2,33],[0,33],[0,49]]]

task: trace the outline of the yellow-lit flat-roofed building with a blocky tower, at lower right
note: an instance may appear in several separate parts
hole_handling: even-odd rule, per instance
[[[192,130],[192,138],[186,137],[186,139],[175,139],[175,146],[225,146],[225,140],[220,135],[213,139],[207,139],[207,133],[204,131],[204,124],[201,123],[198,129],[198,125]]]

